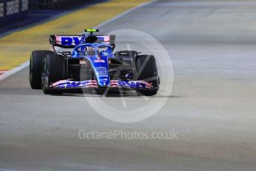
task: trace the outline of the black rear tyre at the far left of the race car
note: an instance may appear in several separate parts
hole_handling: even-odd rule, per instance
[[[41,89],[42,61],[53,51],[33,51],[29,67],[29,81],[32,89]]]

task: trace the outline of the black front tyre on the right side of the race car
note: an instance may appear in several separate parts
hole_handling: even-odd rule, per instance
[[[159,76],[156,66],[156,59],[152,55],[139,55],[135,59],[138,77],[137,80],[144,80],[151,83],[153,87],[159,87]],[[138,95],[153,96],[158,90],[136,90]]]

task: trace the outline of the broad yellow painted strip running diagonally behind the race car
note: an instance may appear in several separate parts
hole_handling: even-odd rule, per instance
[[[50,34],[81,33],[148,1],[107,1],[4,36],[0,39],[0,70],[10,70],[27,61],[33,50],[49,49]]]

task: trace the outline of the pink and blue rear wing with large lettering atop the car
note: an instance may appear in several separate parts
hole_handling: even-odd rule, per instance
[[[106,45],[112,45],[115,47],[115,35],[95,35],[97,36],[97,42]],[[51,45],[60,48],[74,48],[80,45],[81,39],[84,35],[51,35],[49,36],[49,42]]]

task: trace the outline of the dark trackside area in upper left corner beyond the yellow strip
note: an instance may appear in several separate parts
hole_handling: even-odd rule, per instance
[[[40,21],[65,10],[71,10],[86,4],[94,4],[98,1],[100,0],[0,0],[0,33],[4,27],[16,22],[19,23],[13,25],[12,28],[19,28],[20,26],[35,22],[34,20]],[[13,13],[7,15],[7,10]],[[28,18],[30,20],[25,21]],[[22,23],[20,23],[21,21]],[[10,29],[9,26],[7,30]]]

